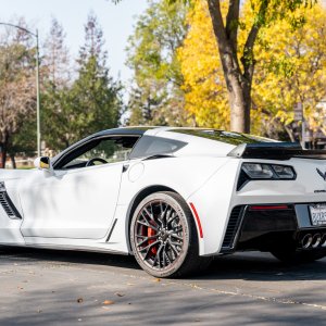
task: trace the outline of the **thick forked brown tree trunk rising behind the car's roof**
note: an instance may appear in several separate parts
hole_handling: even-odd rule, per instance
[[[206,0],[218,47],[224,78],[230,104],[230,129],[250,133],[251,86],[254,71],[253,47],[266,17],[269,0],[260,1],[258,17],[248,34],[240,61],[238,59],[238,21],[242,1],[229,0],[226,20],[223,20],[221,0]]]

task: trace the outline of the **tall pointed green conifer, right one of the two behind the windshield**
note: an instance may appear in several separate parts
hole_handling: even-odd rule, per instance
[[[70,91],[70,143],[118,124],[122,86],[110,76],[103,43],[102,29],[96,16],[90,14],[85,26],[85,45],[77,60],[78,77]]]

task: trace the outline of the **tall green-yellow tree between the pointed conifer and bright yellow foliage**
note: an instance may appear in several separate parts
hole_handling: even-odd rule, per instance
[[[127,48],[134,71],[129,93],[129,124],[184,125],[183,75],[176,57],[187,33],[188,5],[149,0],[138,17]]]

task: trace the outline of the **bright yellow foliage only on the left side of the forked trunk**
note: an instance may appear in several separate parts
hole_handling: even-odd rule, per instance
[[[178,50],[185,78],[185,109],[198,126],[228,129],[226,86],[205,1],[196,1],[188,24],[189,32]]]

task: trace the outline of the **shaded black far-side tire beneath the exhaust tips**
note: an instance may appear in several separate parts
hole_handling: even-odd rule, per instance
[[[326,256],[325,249],[298,251],[294,248],[271,252],[276,259],[287,264],[312,263]]]

